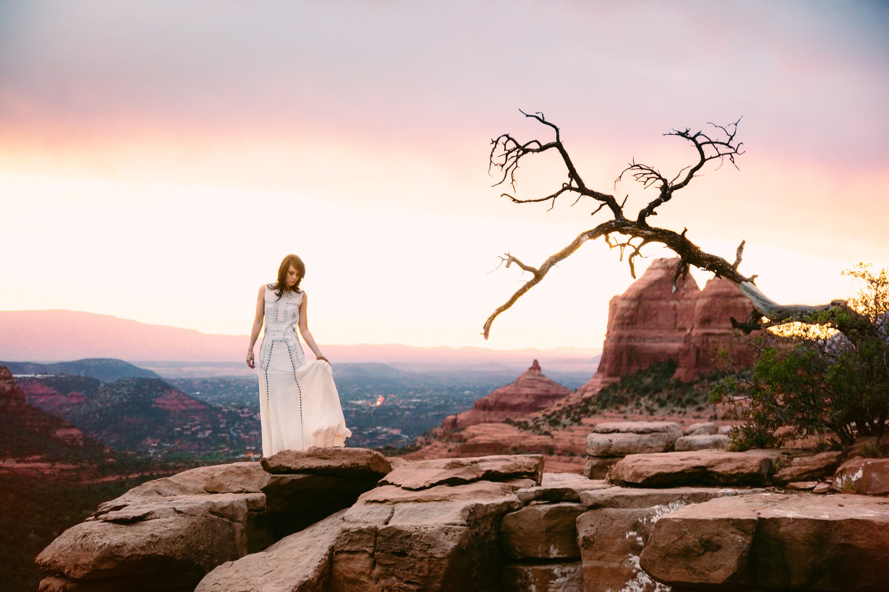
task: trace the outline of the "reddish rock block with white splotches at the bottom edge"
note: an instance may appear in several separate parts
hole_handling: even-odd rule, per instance
[[[586,589],[603,592],[662,589],[639,567],[639,555],[654,524],[689,504],[745,493],[694,487],[661,490],[612,487],[582,492],[582,503],[589,509],[578,517],[577,533]]]

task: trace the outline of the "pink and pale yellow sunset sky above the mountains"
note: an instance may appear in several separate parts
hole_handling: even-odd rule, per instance
[[[694,152],[664,132],[742,116],[740,170],[652,223],[746,239],[773,300],[847,297],[843,268],[889,266],[887,105],[883,2],[0,0],[0,310],[246,335],[293,252],[321,345],[599,347],[632,282],[601,240],[480,335],[530,277],[498,255],[605,220],[491,187],[492,138],[551,138],[520,108],[632,212],[630,159],[671,177]],[[529,159],[518,193],[563,180]]]

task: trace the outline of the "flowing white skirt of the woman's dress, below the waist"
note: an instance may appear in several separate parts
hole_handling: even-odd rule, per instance
[[[331,365],[304,361],[299,343],[294,345],[300,355],[295,355],[288,341],[271,340],[268,359],[260,361],[262,456],[309,446],[344,446],[352,432],[346,428]]]

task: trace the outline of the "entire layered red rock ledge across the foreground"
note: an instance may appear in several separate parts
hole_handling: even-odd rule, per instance
[[[614,466],[621,486],[545,473],[539,454],[286,451],[142,484],[36,561],[43,592],[883,589],[889,499],[750,486],[781,471],[823,476],[831,463],[836,454],[637,454]],[[837,479],[881,491],[885,466],[855,459]]]

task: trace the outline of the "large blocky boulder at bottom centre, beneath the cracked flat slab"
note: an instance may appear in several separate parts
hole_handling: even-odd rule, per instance
[[[522,506],[515,490],[512,484],[474,480],[425,489],[388,484],[363,493],[343,515],[328,590],[499,589],[498,526],[502,516]]]

